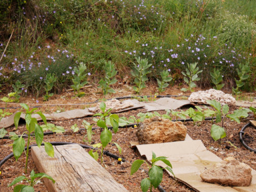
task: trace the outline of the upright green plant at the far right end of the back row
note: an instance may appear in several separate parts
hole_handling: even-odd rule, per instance
[[[250,77],[250,75],[248,75],[248,73],[250,72],[249,62],[247,62],[245,65],[242,65],[241,63],[239,63],[239,68],[237,68],[236,70],[237,70],[239,79],[235,78],[236,88],[233,87],[232,92],[234,94],[240,94],[241,91],[239,91],[238,89],[244,86],[243,81],[245,81],[247,78]]]

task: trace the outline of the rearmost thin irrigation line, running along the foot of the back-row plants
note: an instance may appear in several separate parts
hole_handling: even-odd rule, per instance
[[[155,97],[154,95],[147,95],[147,98],[150,98],[150,97]],[[189,97],[189,95],[156,95],[156,98],[164,98],[164,97]],[[139,96],[125,96],[125,97],[117,97],[117,98],[112,98],[112,99],[117,99],[117,100],[120,100],[120,99],[136,99],[136,98],[141,98],[143,99],[143,96],[139,95]],[[107,100],[111,100],[111,99],[107,99]],[[56,106],[76,106],[76,105],[90,105],[90,104],[93,104],[93,103],[97,103],[99,102],[100,100],[96,100],[96,101],[92,101],[92,102],[86,102],[86,103],[69,103],[69,104],[43,104],[45,106],[48,106],[48,107],[56,107]],[[10,103],[9,103],[10,104]],[[11,104],[14,104],[14,105],[19,105],[19,103],[11,103]],[[36,105],[35,103],[33,105]],[[39,106],[31,106],[31,108],[41,108],[43,106],[40,106],[42,104],[38,104]],[[19,107],[0,107],[0,109],[19,109],[21,108],[20,106]]]

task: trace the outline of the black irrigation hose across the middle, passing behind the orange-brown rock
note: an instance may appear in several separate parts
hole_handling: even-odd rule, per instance
[[[212,119],[216,119],[216,117],[206,117],[204,120],[212,120]],[[189,121],[193,121],[193,119],[189,118],[189,119],[172,119],[173,122],[176,122],[176,121],[181,121],[181,122],[189,122]],[[128,125],[124,125],[124,126],[118,126],[118,128],[127,128],[127,127],[133,127],[134,125],[139,125],[140,123],[132,123],[132,124],[128,124]],[[103,129],[101,127],[92,127],[92,130],[96,130],[96,129]],[[113,127],[111,126],[108,126],[108,129],[113,129]],[[79,131],[83,131],[83,130],[86,130],[85,128],[81,128],[78,130],[78,133]],[[48,132],[44,132],[44,135],[50,135],[50,134],[54,134],[55,132],[52,132],[52,131],[48,131]],[[27,138],[28,135],[27,134],[23,134],[23,135],[18,135],[18,137],[21,137],[22,138]],[[34,133],[31,133],[30,136],[34,137],[35,134]],[[10,135],[5,135],[4,137],[0,138],[1,139],[9,139],[11,136]]]

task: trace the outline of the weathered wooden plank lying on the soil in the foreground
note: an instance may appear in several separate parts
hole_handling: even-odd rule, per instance
[[[50,175],[56,181],[53,184],[44,179],[50,192],[128,191],[81,146],[53,147],[53,158],[45,153],[44,146],[31,147],[31,155],[39,172]]]

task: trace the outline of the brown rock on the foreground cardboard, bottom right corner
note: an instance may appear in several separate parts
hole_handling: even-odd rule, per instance
[[[228,157],[216,163],[211,169],[206,169],[200,177],[205,182],[219,183],[225,186],[246,187],[252,181],[251,167],[238,162],[234,157]]]

